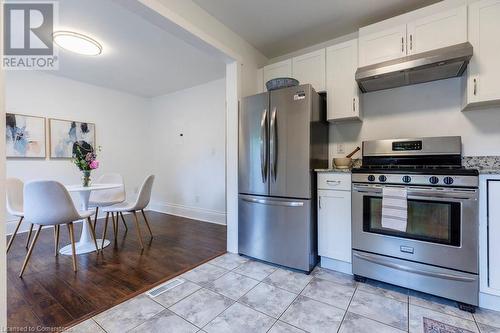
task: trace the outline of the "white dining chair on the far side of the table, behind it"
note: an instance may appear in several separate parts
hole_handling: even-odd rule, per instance
[[[123,177],[118,173],[107,173],[99,177],[96,181],[97,184],[121,184],[118,188],[113,188],[109,190],[102,191],[93,191],[90,194],[89,199],[89,207],[95,208],[95,216],[94,216],[94,229],[97,224],[97,214],[99,214],[99,208],[112,206],[125,201],[125,185],[123,182]],[[123,225],[125,226],[125,230],[128,230],[127,223],[125,223],[125,218],[123,217],[123,213],[117,213],[116,222],[118,224],[118,215],[120,215]],[[112,215],[114,220],[114,215]],[[115,224],[113,224],[115,227]],[[116,232],[115,232],[116,239]]]

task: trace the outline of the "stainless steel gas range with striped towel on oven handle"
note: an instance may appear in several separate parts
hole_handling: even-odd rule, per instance
[[[363,142],[352,175],[352,259],[372,278],[458,302],[479,302],[478,171],[461,165],[460,137]],[[405,231],[382,226],[384,187],[405,188]]]

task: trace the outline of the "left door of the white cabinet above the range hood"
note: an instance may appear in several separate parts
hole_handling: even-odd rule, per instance
[[[406,24],[359,36],[359,67],[406,55]]]

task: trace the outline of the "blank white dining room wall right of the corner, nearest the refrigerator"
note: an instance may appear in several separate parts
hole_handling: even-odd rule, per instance
[[[225,224],[225,84],[152,99],[153,209]]]

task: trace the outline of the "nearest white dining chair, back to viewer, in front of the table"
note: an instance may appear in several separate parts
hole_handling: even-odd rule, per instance
[[[75,253],[75,234],[73,231],[73,222],[77,220],[86,220],[94,238],[96,252],[99,253],[97,241],[95,237],[95,230],[92,226],[90,217],[94,214],[89,210],[86,212],[78,212],[75,208],[73,200],[68,191],[59,182],[52,180],[41,180],[29,182],[24,186],[24,217],[33,224],[38,225],[38,228],[31,242],[26,258],[24,259],[23,267],[19,273],[19,277],[23,276],[24,270],[28,265],[28,261],[33,253],[35,243],[40,236],[40,231],[43,226],[53,226],[59,236],[59,226],[66,224],[68,227],[69,238],[72,245],[73,254],[73,271],[76,272],[76,253]],[[58,239],[56,239],[57,251]]]

